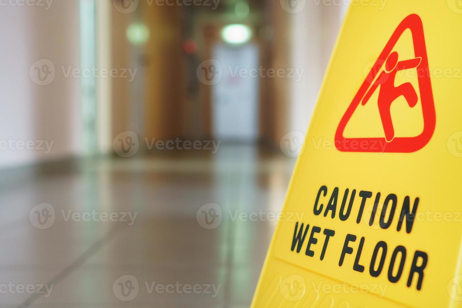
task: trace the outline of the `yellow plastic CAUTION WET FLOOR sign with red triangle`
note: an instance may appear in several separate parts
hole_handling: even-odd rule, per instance
[[[252,307],[462,307],[462,1],[370,2],[347,13]]]

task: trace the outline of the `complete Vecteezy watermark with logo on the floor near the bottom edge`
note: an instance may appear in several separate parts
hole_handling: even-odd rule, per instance
[[[221,284],[182,284],[176,281],[174,284],[159,284],[156,281],[144,281],[142,284],[147,294],[210,294],[218,296]],[[134,275],[124,275],[116,279],[112,284],[114,295],[121,301],[132,301],[140,293],[140,283]]]

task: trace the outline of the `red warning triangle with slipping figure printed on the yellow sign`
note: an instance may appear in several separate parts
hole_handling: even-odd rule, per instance
[[[405,30],[411,30],[414,58],[400,59],[397,52],[392,52]],[[414,89],[410,83],[395,87],[396,72],[416,68],[419,89]],[[343,132],[359,104],[365,105],[375,91],[379,91],[378,109],[383,124],[385,138],[344,138]],[[390,116],[390,105],[400,96],[404,96],[409,107],[417,104],[419,91],[424,118],[423,132],[416,137],[394,136],[393,123]],[[372,102],[369,102],[372,103]],[[382,53],[372,66],[365,81],[356,93],[345,115],[340,120],[335,133],[335,146],[345,152],[415,152],[423,148],[432,138],[435,131],[435,106],[433,102],[432,83],[428,69],[428,57],[424,38],[422,20],[416,14],[404,18],[383,48]]]

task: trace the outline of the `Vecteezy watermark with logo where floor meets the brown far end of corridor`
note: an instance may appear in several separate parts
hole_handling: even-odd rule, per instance
[[[182,140],[180,138],[170,140],[158,140],[156,138],[145,138],[147,150],[206,150],[216,154],[221,141],[215,140]],[[112,141],[112,147],[117,155],[121,157],[132,157],[140,149],[140,139],[132,131],[119,133]]]

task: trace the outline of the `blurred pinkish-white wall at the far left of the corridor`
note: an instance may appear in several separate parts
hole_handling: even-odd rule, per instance
[[[54,0],[48,10],[41,3],[45,7],[0,7],[0,148],[9,139],[54,143],[49,153],[0,149],[0,168],[81,152],[80,80],[61,71],[79,67],[79,1]],[[29,75],[41,59],[55,64],[49,85],[36,85]]]

